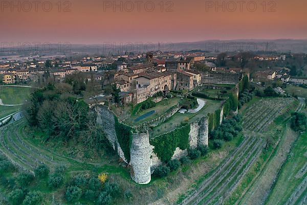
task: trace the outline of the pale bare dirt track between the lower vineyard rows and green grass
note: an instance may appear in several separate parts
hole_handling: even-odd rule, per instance
[[[280,141],[275,156],[268,162],[265,170],[261,173],[251,189],[246,193],[240,204],[260,205],[264,204],[270,194],[273,182],[276,180],[279,169],[284,160],[286,160],[291,146],[295,141],[297,134],[287,126],[286,135]]]

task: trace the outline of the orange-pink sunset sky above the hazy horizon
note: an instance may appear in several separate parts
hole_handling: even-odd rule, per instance
[[[57,1],[51,1],[50,12],[43,11],[41,1],[35,11],[35,4],[29,12],[28,5],[19,2],[12,8],[11,1],[2,1],[0,10],[1,42],[50,42],[71,44],[103,44],[105,42],[195,42],[209,39],[277,39],[277,38],[307,38],[307,1],[278,0],[274,3],[256,0],[257,9],[253,12],[251,1],[236,3],[235,11],[230,1],[218,1],[225,4],[215,11],[215,2],[204,0],[151,1],[155,8],[152,12],[149,1],[134,3],[133,11],[129,12],[131,4],[122,2],[113,10],[113,1],[87,0],[71,1],[71,5],[61,2],[61,12]],[[30,1],[32,2],[32,1]],[[237,2],[237,1],[234,1]],[[249,3],[250,10],[247,8]],[[18,1],[14,1],[18,5]],[[120,5],[120,1],[117,1]],[[126,7],[125,7],[126,4]],[[228,7],[227,7],[228,4]],[[106,8],[110,6],[112,8]],[[207,7],[206,7],[207,5]],[[70,12],[63,12],[69,6]],[[165,12],[170,7],[172,12]],[[209,8],[210,6],[210,8]],[[211,8],[213,7],[213,8]],[[269,12],[273,7],[275,12]],[[126,8],[126,9],[125,9]],[[228,8],[228,9],[227,9]],[[13,11],[11,11],[13,9]],[[45,9],[49,5],[45,4]],[[265,11],[264,11],[265,9]],[[105,11],[104,11],[105,10]]]

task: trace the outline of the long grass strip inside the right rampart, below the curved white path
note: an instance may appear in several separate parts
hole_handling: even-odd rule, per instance
[[[202,117],[207,116],[208,113],[213,113],[215,110],[221,107],[221,101],[219,100],[208,100],[205,99],[206,105],[198,113],[179,113],[177,112],[171,116],[163,124],[155,127],[150,133],[151,136],[157,136],[165,132],[171,131],[176,127],[180,126],[182,122],[193,122],[200,120]]]

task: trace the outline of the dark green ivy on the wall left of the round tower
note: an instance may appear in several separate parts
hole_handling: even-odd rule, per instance
[[[124,152],[124,156],[127,159],[127,162],[130,161],[130,147],[132,142],[132,128],[121,124],[118,121],[118,118],[114,116],[115,119],[115,132],[117,136],[118,143]]]

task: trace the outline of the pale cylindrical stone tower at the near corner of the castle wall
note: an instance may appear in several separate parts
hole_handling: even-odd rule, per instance
[[[149,135],[147,133],[134,133],[130,149],[130,174],[131,178],[145,185],[151,180],[150,156],[152,153],[149,144]]]

